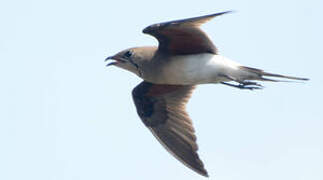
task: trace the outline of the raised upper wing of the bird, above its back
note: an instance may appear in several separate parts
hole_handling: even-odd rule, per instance
[[[153,24],[146,27],[143,33],[150,34],[159,42],[158,50],[171,55],[196,53],[217,54],[217,49],[200,29],[200,25],[212,18],[231,11],[206,16],[175,20]]]

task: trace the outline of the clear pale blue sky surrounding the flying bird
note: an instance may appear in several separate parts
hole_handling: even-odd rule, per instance
[[[0,2],[0,179],[205,179],[136,114],[133,74],[104,59],[157,45],[150,24],[235,10],[203,29],[220,54],[306,83],[201,85],[188,104],[215,180],[323,179],[323,1]]]

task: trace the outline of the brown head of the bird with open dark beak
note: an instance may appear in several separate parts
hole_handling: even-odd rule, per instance
[[[129,48],[109,56],[105,61],[113,60],[107,66],[117,66],[141,76],[141,69],[144,63],[150,62],[153,58],[156,47],[136,47]]]

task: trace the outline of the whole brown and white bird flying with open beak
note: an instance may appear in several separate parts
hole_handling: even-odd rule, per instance
[[[132,91],[142,122],[169,153],[206,177],[192,120],[185,110],[196,85],[220,83],[253,90],[262,88],[257,81],[308,80],[246,67],[219,55],[200,25],[229,12],[150,25],[143,33],[154,36],[158,47],[129,48],[106,58],[112,60],[107,66],[143,79]]]

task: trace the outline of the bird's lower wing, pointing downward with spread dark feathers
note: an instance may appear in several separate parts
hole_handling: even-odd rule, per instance
[[[132,91],[137,113],[158,141],[179,161],[208,176],[200,160],[192,121],[185,105],[194,86],[142,82]]]

